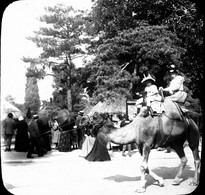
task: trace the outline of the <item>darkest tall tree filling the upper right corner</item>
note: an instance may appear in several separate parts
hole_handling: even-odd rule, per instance
[[[199,5],[191,0],[97,0],[91,14],[94,32],[100,34],[95,47],[119,32],[140,27],[143,21],[150,26],[167,26],[181,39],[180,46],[186,52],[180,69],[191,79],[193,95],[202,99],[203,14]]]

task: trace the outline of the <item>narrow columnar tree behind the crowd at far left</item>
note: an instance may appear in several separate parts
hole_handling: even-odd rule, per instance
[[[31,111],[37,113],[40,108],[40,97],[37,79],[35,77],[27,76],[25,92],[24,109],[28,110],[30,108]]]

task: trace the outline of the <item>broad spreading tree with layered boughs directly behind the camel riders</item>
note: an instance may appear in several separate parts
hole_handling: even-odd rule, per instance
[[[124,30],[104,40],[95,60],[86,66],[84,74],[92,83],[88,90],[98,101],[119,96],[132,98],[142,90],[140,81],[148,70],[158,75],[159,85],[165,85],[161,75],[172,63],[180,66],[184,53],[180,39],[165,26],[144,23]]]

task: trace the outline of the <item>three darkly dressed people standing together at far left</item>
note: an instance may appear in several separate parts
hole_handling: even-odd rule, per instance
[[[18,152],[28,152],[27,158],[33,158],[32,154],[43,156],[51,148],[47,147],[46,139],[37,123],[38,116],[33,115],[31,119],[24,119],[20,116],[13,118],[9,113],[3,121],[3,136],[5,141],[5,151],[11,151],[12,138],[15,137],[14,150]]]

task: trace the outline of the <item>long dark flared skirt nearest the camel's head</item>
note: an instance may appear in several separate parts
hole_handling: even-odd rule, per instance
[[[108,161],[111,160],[107,149],[106,135],[102,132],[98,133],[94,146],[90,153],[85,157],[88,161]]]

